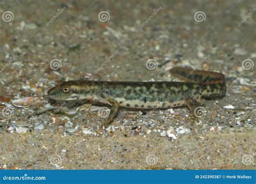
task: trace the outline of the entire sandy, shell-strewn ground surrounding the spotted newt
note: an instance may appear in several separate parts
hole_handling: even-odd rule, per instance
[[[255,169],[255,1],[31,2],[0,6],[0,168]],[[174,66],[226,76],[197,124],[123,109],[102,130],[107,108],[45,97],[59,80],[177,81]]]

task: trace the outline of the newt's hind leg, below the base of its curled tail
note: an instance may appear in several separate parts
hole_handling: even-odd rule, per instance
[[[205,109],[201,107],[204,104],[203,100],[194,100],[192,97],[189,97],[185,101],[186,106],[190,109],[190,121],[191,124],[196,121],[199,122],[198,117],[202,117],[205,114]]]

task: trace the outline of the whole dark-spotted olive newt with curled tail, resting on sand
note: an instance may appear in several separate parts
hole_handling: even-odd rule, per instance
[[[156,81],[59,81],[48,91],[48,98],[59,101],[88,100],[111,105],[103,126],[113,122],[119,107],[130,109],[169,109],[200,107],[202,99],[226,94],[224,74],[174,67],[170,73],[185,82]]]

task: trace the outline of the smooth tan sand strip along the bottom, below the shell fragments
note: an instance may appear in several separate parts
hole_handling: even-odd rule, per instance
[[[3,162],[26,169],[253,169],[241,164],[245,153],[255,152],[255,129],[194,133],[172,141],[165,137],[129,136],[115,132],[106,137],[62,131],[1,136]],[[36,141],[35,141],[36,140]],[[56,165],[51,161],[56,161]]]

